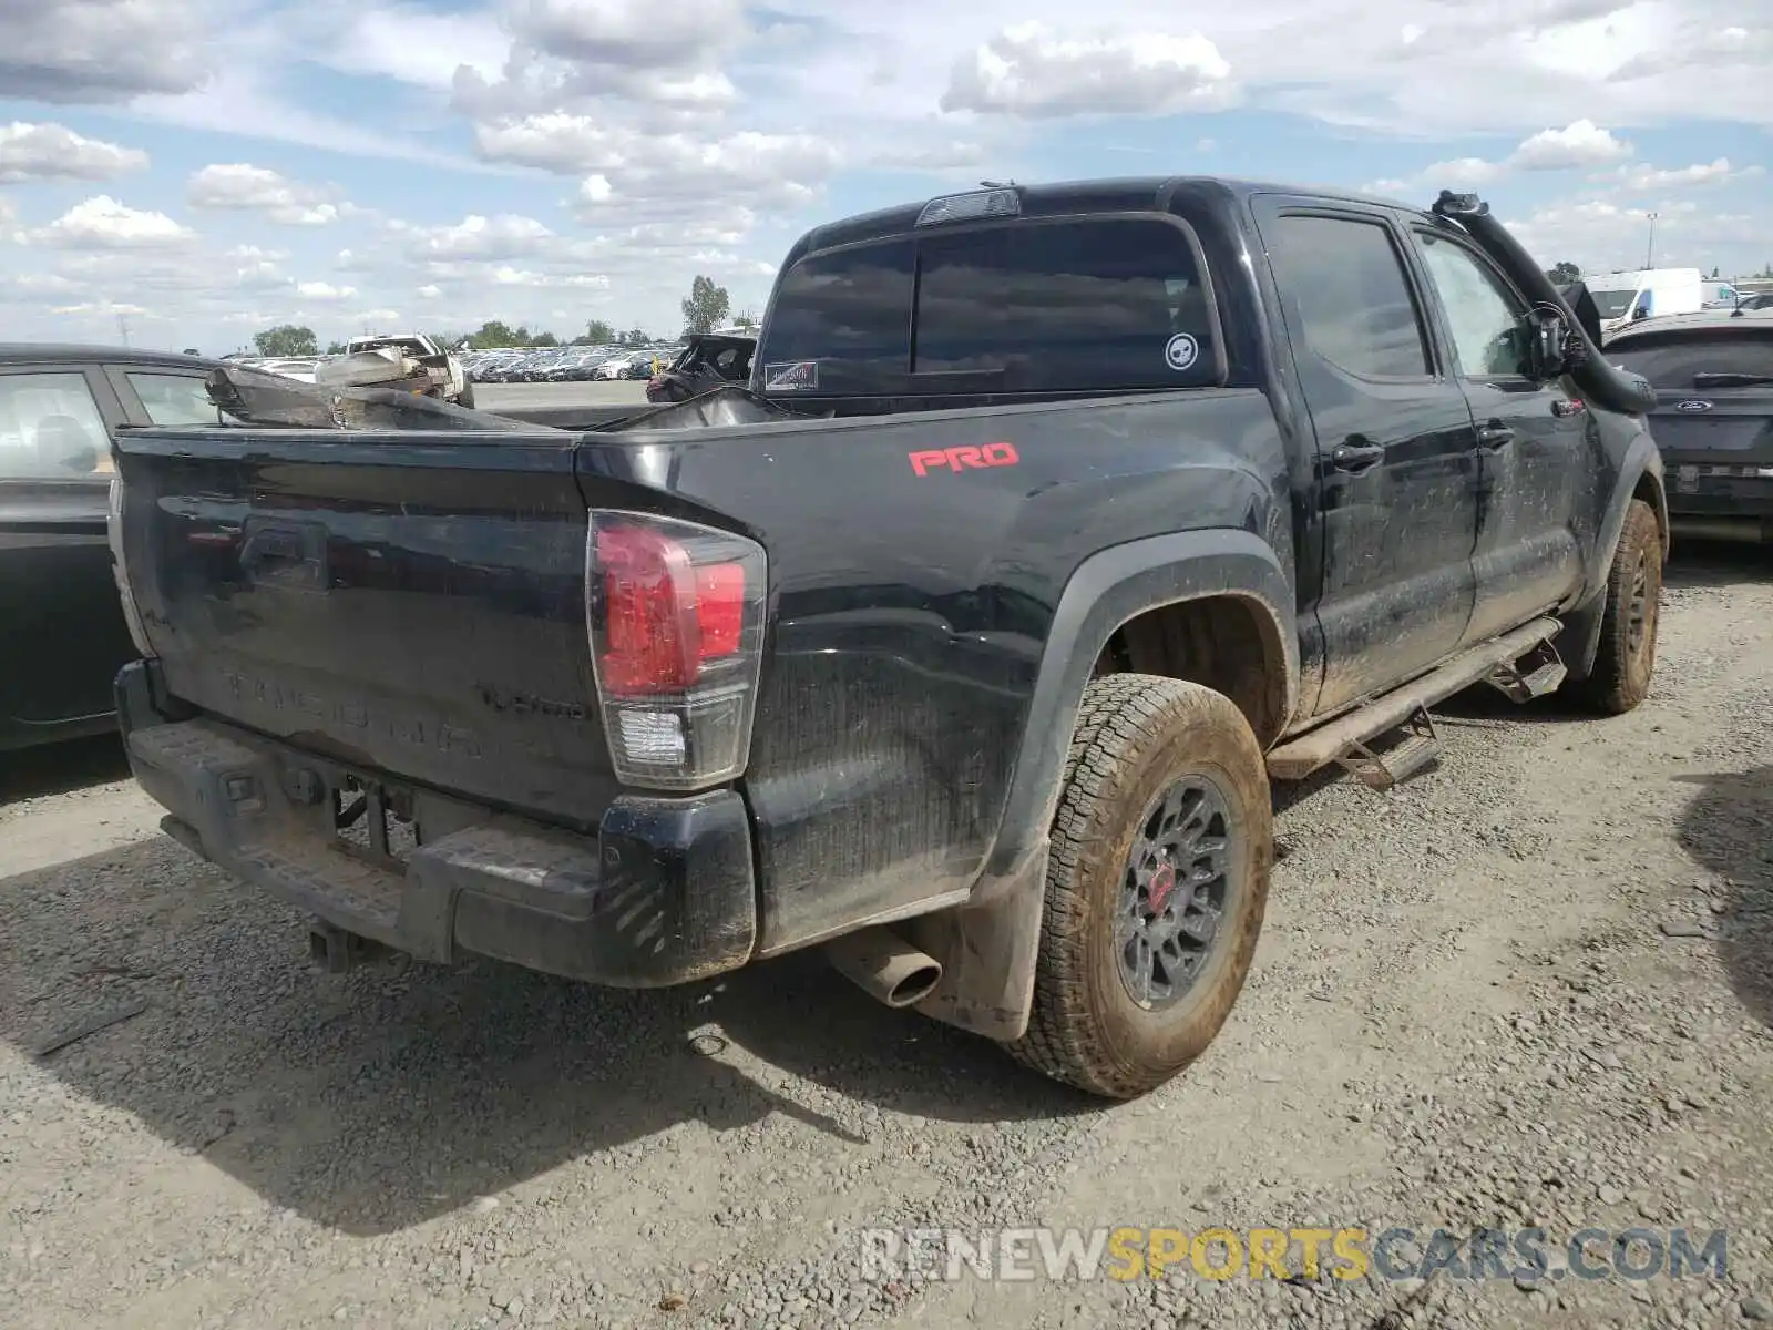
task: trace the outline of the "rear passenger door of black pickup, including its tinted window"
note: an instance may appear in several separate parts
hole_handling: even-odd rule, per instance
[[[1390,211],[1280,195],[1255,207],[1317,434],[1324,713],[1420,674],[1464,638],[1477,440]]]

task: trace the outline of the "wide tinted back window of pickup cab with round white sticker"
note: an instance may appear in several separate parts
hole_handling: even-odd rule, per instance
[[[1113,392],[1218,381],[1188,234],[1018,222],[814,255],[784,277],[764,392]]]

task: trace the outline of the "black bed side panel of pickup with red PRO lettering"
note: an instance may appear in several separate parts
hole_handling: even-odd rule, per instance
[[[766,954],[970,890],[1055,608],[1087,557],[1230,528],[1294,566],[1285,459],[1254,390],[651,438],[585,442],[590,505],[658,511],[665,489],[681,516],[725,514],[769,552],[773,626],[743,782]],[[991,443],[1014,461],[913,465]]]

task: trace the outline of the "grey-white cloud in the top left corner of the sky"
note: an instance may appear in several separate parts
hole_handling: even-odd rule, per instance
[[[0,92],[25,101],[121,103],[190,92],[220,50],[206,0],[9,0],[0,7]]]

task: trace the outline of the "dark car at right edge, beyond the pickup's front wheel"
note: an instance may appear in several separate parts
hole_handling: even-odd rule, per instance
[[[1773,541],[1773,310],[1645,319],[1606,358],[1656,385],[1670,528]]]

